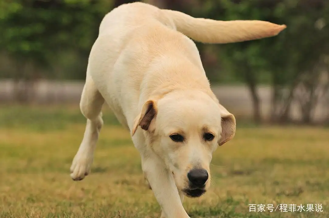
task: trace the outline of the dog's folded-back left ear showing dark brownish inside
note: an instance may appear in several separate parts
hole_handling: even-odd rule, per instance
[[[137,128],[140,126],[143,130],[149,130],[150,124],[152,119],[157,114],[158,109],[156,102],[154,100],[148,100],[144,103],[141,112],[136,117],[134,121],[133,130],[131,132],[131,135],[133,136],[137,130]]]

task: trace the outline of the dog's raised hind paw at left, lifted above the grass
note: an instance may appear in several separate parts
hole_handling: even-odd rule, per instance
[[[74,181],[80,181],[90,173],[92,157],[88,155],[76,154],[70,167],[70,176]]]

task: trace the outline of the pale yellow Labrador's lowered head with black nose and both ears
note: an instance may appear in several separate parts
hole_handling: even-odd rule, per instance
[[[163,159],[179,191],[199,197],[210,186],[210,162],[218,147],[233,138],[235,117],[203,92],[172,92],[148,100],[135,120],[147,146]]]

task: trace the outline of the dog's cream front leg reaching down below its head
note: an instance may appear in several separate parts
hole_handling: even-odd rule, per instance
[[[162,208],[161,217],[189,218],[186,213],[174,178],[157,157],[143,158],[143,171],[152,191]]]

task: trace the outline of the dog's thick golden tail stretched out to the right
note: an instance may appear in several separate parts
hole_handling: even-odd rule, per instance
[[[286,25],[260,20],[219,21],[194,18],[188,14],[163,9],[176,26],[177,31],[203,43],[232,43],[261,39],[278,35]]]

